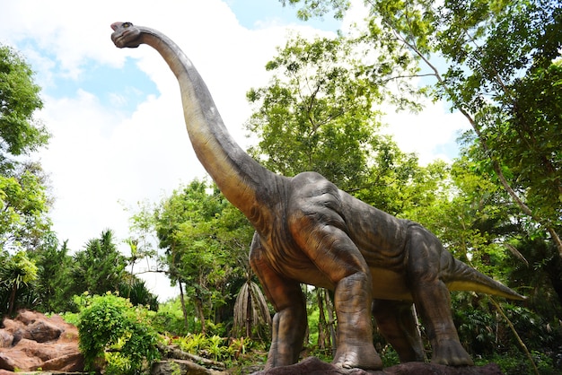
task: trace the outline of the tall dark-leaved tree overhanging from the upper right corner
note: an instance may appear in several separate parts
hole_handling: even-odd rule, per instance
[[[289,1],[297,3],[302,2]],[[303,3],[298,14],[304,19],[330,7],[341,16],[348,6],[335,0]],[[381,56],[407,50],[404,61],[411,63],[412,72],[425,67],[417,74],[435,77],[434,98],[448,100],[467,118],[481,149],[480,162],[493,170],[496,183],[532,226],[549,233],[562,257],[560,75],[555,61],[562,45],[559,2],[365,3],[370,16],[363,40]]]

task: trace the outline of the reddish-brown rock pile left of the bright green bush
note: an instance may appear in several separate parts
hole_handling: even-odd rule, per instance
[[[78,328],[63,318],[24,310],[2,323],[0,371],[83,371]]]

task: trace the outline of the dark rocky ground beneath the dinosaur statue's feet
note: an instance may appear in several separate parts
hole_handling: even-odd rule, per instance
[[[268,371],[254,372],[253,375],[503,375],[495,363],[477,367],[450,367],[442,364],[423,362],[400,363],[382,371],[361,369],[344,370],[330,363],[310,357],[291,366],[277,367]]]

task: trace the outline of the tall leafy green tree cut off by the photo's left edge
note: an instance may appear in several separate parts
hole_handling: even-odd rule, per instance
[[[45,175],[22,159],[48,142],[33,119],[42,101],[32,75],[22,57],[0,46],[0,247],[14,251],[37,247],[50,228]]]

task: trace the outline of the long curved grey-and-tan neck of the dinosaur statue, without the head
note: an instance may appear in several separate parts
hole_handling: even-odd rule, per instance
[[[260,182],[271,180],[271,171],[250,158],[224,126],[205,82],[189,58],[168,37],[140,28],[142,42],[156,49],[180,83],[181,101],[189,139],[199,161],[224,196],[242,213],[250,214]]]

